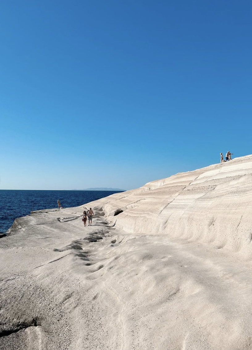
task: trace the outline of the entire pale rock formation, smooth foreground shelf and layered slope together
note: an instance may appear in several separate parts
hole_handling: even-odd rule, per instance
[[[251,204],[252,155],[16,219],[0,349],[252,349]]]

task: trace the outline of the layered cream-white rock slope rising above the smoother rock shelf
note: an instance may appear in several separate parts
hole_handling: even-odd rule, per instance
[[[250,258],[251,202],[249,155],[152,181],[90,205],[102,208],[117,228],[127,232],[211,243]]]

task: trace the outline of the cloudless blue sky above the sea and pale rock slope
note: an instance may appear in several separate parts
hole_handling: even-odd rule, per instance
[[[131,189],[252,153],[252,2],[2,0],[0,188]]]

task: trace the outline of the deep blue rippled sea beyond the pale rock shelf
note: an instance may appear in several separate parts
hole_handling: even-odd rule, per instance
[[[0,232],[6,232],[13,221],[32,210],[77,207],[120,191],[43,191],[0,190]]]

